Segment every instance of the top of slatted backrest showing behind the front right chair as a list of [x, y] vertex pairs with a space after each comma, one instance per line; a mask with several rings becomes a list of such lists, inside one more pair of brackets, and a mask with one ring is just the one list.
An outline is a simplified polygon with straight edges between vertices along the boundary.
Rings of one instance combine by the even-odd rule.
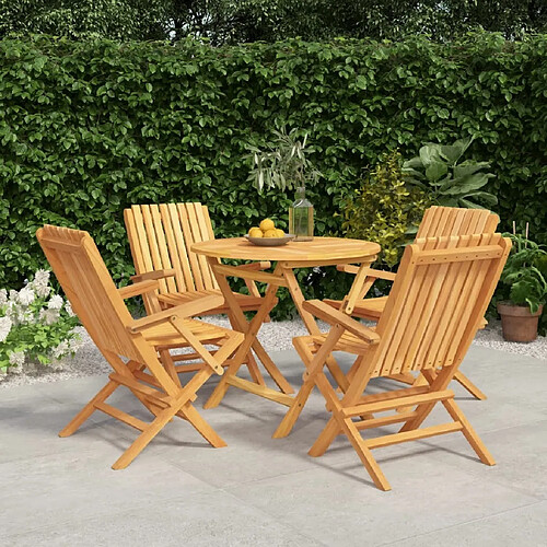
[[458, 209], [433, 206], [426, 210], [416, 238], [443, 235], [490, 234], [500, 218], [487, 209]]

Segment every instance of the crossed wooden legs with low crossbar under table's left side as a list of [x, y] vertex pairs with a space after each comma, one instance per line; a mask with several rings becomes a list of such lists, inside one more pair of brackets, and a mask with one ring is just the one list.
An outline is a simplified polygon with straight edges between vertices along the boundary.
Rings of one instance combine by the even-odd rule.
[[[214, 258], [209, 258], [208, 260], [211, 265], [212, 271], [214, 272], [220, 290], [222, 291], [226, 300], [226, 303], [230, 306], [234, 325], [240, 331], [245, 334], [245, 340], [237, 349], [232, 360], [232, 363], [224, 371], [224, 374], [221, 377], [219, 385], [214, 388], [213, 393], [211, 394], [207, 403], [203, 405], [203, 408], [213, 408], [218, 406], [219, 403], [224, 397], [230, 385], [235, 385], [236, 387], [241, 387], [248, 392], [255, 393], [256, 395], [260, 395], [263, 397], [289, 406], [292, 401], [292, 397], [290, 397], [287, 394], [294, 392], [291, 385], [287, 382], [287, 380], [279, 371], [279, 369], [276, 366], [274, 361], [271, 361], [266, 350], [263, 348], [261, 344], [256, 338], [256, 335], [260, 329], [261, 324], [264, 323], [265, 318], [268, 316], [271, 309], [274, 307], [278, 287], [275, 284], [270, 284], [268, 287], [268, 289], [266, 290], [266, 295], [264, 296], [263, 305], [256, 312], [251, 323], [248, 323], [247, 319], [245, 318], [245, 314], [243, 313], [240, 304], [237, 303], [232, 293], [226, 277], [223, 276], [222, 274], [218, 274], [214, 269], [214, 265], [219, 264], [219, 261]], [[274, 271], [274, 276], [279, 276], [278, 270], [279, 268], [276, 268], [276, 270]], [[269, 373], [271, 379], [276, 382], [276, 384], [279, 386], [282, 393], [277, 392], [276, 389], [271, 389], [270, 387], [267, 387], [265, 385], [252, 383], [246, 380], [238, 379], [236, 376], [236, 373], [240, 370], [241, 365], [243, 364], [245, 357], [251, 352], [252, 349], [255, 350], [264, 368]]]

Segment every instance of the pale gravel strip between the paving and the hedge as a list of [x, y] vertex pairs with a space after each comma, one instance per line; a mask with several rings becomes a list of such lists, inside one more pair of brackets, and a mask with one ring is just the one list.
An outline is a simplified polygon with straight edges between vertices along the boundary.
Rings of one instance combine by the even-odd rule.
[[[207, 321], [216, 325], [230, 327], [228, 319], [224, 317], [208, 317]], [[327, 328], [325, 324], [321, 323], [319, 327], [322, 330], [326, 330]], [[53, 371], [51, 369], [40, 366], [37, 370], [10, 373], [3, 381], [0, 381], [0, 388], [40, 382], [58, 382], [60, 380], [102, 375], [110, 372], [110, 366], [106, 363], [85, 330], [82, 327], [79, 328], [83, 340], [82, 347], [72, 359], [63, 363], [62, 370]], [[269, 352], [292, 349], [292, 338], [306, 334], [307, 331], [302, 321], [282, 321], [265, 323], [258, 338], [266, 351]], [[474, 344], [511, 353], [531, 356], [547, 361], [547, 337], [538, 337], [537, 340], [531, 344], [508, 342], [501, 337], [501, 326], [498, 323], [490, 324], [485, 330], [479, 330]]]

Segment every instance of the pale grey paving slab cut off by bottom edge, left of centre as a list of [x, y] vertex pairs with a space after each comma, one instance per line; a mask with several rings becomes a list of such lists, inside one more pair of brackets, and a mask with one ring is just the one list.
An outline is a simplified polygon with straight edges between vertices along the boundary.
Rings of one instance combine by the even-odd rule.
[[217, 491], [187, 494], [148, 508], [67, 522], [10, 538], [19, 547], [116, 546], [316, 547], [321, 544], [235, 497]]

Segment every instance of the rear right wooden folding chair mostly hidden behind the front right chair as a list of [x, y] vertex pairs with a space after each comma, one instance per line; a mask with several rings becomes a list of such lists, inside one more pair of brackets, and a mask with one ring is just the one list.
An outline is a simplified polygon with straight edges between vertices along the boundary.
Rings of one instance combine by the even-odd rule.
[[[431, 207], [426, 210], [423, 219], [418, 228], [417, 238], [422, 237], [440, 237], [449, 235], [470, 235], [482, 233], [494, 233], [500, 219], [497, 214], [491, 213], [486, 209], [457, 209], [454, 207]], [[357, 274], [359, 268], [351, 265], [338, 266], [339, 271], [347, 274]], [[387, 302], [387, 296], [375, 299], [364, 299], [364, 295], [370, 291], [376, 279], [394, 281], [396, 275], [392, 271], [376, 270], [369, 268], [366, 271], [366, 280], [362, 284], [360, 298], [362, 300], [354, 304], [351, 315], [362, 319], [377, 322], [384, 311]], [[336, 309], [340, 309], [341, 300], [324, 300]], [[482, 326], [487, 322], [484, 319]], [[412, 375], [398, 374], [396, 380], [414, 385], [423, 385], [424, 380], [419, 376], [415, 379]], [[459, 382], [474, 397], [477, 399], [486, 399], [486, 395], [468, 379], [463, 372], [457, 372], [454, 380]]]

